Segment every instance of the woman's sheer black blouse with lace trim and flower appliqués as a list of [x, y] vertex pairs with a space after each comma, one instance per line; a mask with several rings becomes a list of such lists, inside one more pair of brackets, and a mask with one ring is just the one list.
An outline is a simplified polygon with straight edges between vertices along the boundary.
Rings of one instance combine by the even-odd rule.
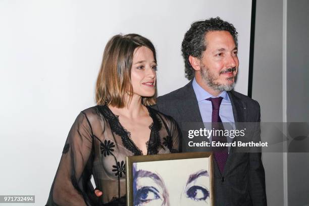
[[[147, 155], [178, 152], [181, 134], [175, 120], [147, 109], [152, 118]], [[107, 106], [82, 111], [69, 132], [46, 205], [125, 205], [125, 158], [134, 155], [143, 154]], [[100, 198], [91, 175], [103, 192]]]

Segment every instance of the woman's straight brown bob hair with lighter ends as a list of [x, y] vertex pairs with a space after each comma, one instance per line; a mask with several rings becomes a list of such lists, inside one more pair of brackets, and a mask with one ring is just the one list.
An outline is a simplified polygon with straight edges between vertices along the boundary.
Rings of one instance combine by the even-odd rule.
[[[115, 35], [107, 43], [101, 68], [96, 80], [95, 99], [97, 105], [125, 107], [125, 94], [132, 94], [131, 67], [137, 47], [146, 46], [153, 53], [157, 63], [156, 49], [151, 41], [138, 34]], [[156, 83], [157, 85], [157, 83]], [[142, 97], [143, 105], [154, 105], [156, 92], [151, 97]]]

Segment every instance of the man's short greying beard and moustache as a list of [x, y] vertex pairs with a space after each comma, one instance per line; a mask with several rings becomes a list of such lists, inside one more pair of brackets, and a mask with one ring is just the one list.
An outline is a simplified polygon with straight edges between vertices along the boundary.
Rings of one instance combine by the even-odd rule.
[[[236, 67], [225, 69], [223, 72], [234, 72], [234, 71], [236, 71]], [[216, 75], [212, 73], [210, 69], [206, 68], [204, 65], [201, 65], [200, 75], [202, 79], [207, 83], [207, 85], [216, 91], [231, 91], [235, 86], [236, 75], [233, 77], [227, 77], [226, 80], [228, 81], [228, 83], [219, 84], [216, 83], [215, 81], [219, 79], [220, 74], [219, 76], [216, 77]]]

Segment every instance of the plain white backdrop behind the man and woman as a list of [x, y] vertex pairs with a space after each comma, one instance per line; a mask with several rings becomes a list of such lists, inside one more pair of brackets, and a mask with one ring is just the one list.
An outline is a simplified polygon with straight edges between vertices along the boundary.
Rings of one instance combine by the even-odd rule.
[[251, 1], [0, 0], [0, 195], [36, 195], [44, 205], [71, 125], [95, 105], [113, 35], [153, 42], [162, 95], [188, 82], [180, 46], [190, 24], [217, 16], [239, 32], [236, 90], [247, 94]]

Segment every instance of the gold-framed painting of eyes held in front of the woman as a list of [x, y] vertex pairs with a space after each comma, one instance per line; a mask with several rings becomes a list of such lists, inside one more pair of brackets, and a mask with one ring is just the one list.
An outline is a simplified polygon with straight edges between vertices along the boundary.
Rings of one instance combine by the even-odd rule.
[[176, 205], [199, 201], [194, 205], [214, 206], [213, 158], [213, 152], [128, 156], [127, 206], [147, 205], [149, 201], [155, 203], [151, 205], [158, 202], [158, 206], [173, 205], [170, 201], [179, 201]]

